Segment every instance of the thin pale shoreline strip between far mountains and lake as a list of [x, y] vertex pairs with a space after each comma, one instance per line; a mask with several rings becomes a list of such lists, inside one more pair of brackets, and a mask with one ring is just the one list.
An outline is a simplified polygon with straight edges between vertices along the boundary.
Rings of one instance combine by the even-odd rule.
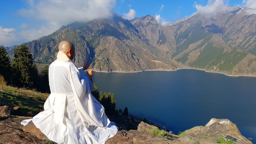
[[[191, 68], [179, 68], [179, 69], [176, 69], [176, 70], [163, 70], [163, 69], [156, 69], [156, 70], [143, 70], [143, 71], [177, 71], [177, 70], [180, 70], [180, 69], [191, 69]], [[224, 73], [224, 72], [216, 72], [216, 71], [207, 71], [207, 70], [204, 70], [204, 69], [197, 69], [197, 68], [192, 68], [193, 70], [201, 70], [201, 71], [205, 71], [205, 72], [212, 72], [212, 73], [220, 73], [220, 74], [224, 74], [224, 75], [227, 75], [227, 76], [230, 76], [230, 77], [256, 77], [256, 75], [247, 75], [247, 74], [243, 74], [243, 75], [230, 75], [230, 74], [227, 74], [227, 73]], [[92, 69], [93, 70], [93, 69]], [[143, 71], [97, 71], [97, 70], [93, 70], [95, 72], [107, 72], [107, 73], [111, 73], [111, 72], [119, 72], [119, 73], [133, 73], [133, 72], [143, 72]]]

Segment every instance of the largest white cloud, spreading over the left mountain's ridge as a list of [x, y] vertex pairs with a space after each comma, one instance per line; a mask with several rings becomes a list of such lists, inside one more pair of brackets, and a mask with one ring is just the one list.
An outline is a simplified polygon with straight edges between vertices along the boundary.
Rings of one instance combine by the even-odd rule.
[[26, 23], [20, 25], [21, 31], [14, 28], [0, 27], [0, 44], [13, 45], [20, 42], [27, 42], [38, 39], [41, 36], [49, 35], [62, 25], [75, 21], [90, 21], [95, 18], [111, 17], [114, 13], [112, 8], [116, 0], [44, 0], [37, 3], [34, 0], [27, 0], [27, 9], [20, 9], [17, 15], [32, 19], [46, 21], [46, 25], [31, 26], [29, 29]]

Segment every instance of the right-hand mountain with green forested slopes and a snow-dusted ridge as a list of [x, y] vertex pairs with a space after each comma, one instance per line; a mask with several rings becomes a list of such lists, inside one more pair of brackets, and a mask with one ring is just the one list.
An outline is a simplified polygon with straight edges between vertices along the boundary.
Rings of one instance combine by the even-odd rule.
[[[256, 14], [248, 8], [220, 6], [212, 16], [197, 13], [165, 25], [152, 16], [130, 22], [149, 44], [186, 66], [232, 74], [255, 74]], [[151, 22], [149, 22], [151, 21]]]

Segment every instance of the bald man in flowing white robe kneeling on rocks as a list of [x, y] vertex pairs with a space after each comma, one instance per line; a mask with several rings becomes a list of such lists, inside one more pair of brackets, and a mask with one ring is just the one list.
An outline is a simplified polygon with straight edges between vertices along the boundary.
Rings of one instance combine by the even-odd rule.
[[51, 94], [44, 103], [44, 111], [32, 119], [21, 122], [24, 126], [32, 120], [50, 140], [64, 144], [104, 144], [118, 131], [110, 122], [104, 107], [92, 95], [94, 90], [88, 60], [77, 68], [71, 61], [75, 46], [70, 41], [59, 43], [57, 59], [49, 66]]

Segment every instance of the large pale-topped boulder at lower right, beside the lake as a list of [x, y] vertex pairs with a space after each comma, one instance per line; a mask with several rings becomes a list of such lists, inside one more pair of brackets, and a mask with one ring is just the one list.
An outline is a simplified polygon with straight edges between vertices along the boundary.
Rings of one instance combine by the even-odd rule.
[[222, 135], [223, 138], [234, 139], [236, 144], [252, 144], [240, 133], [236, 124], [228, 119], [212, 118], [205, 126], [195, 126], [184, 132], [191, 132], [195, 137], [204, 138], [211, 142], [216, 142], [217, 138], [220, 139]]

